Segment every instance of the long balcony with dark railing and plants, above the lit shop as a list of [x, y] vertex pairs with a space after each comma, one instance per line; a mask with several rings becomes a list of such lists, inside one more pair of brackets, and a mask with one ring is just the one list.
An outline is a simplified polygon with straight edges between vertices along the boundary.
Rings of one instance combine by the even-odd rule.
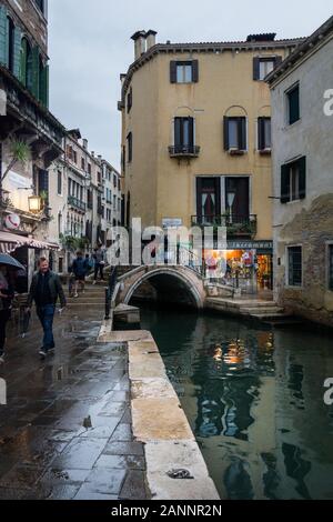
[[226, 227], [228, 238], [253, 239], [258, 230], [256, 214], [192, 215], [192, 227]]

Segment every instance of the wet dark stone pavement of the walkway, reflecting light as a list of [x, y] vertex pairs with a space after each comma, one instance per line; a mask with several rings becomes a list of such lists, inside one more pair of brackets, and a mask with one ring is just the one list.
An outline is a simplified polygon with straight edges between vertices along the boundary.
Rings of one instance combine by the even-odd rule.
[[100, 310], [75, 313], [56, 319], [56, 355], [44, 362], [36, 318], [26, 339], [9, 332], [0, 368], [8, 385], [0, 499], [148, 498], [143, 446], [131, 430], [127, 350], [97, 344]]

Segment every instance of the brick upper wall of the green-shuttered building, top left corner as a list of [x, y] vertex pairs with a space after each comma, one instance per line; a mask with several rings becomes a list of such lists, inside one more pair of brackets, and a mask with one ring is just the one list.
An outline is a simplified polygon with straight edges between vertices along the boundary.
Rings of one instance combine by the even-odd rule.
[[10, 11], [14, 23], [32, 38], [40, 50], [48, 54], [48, 21], [32, 0], [1, 0]]

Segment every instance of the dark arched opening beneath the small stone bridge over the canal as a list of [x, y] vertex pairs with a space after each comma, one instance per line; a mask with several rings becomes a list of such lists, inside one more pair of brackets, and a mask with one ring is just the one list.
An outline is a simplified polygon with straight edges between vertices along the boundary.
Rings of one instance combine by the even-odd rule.
[[176, 305], [201, 310], [202, 295], [195, 283], [179, 271], [152, 271], [138, 278], [124, 298], [125, 304], [138, 301], [158, 305]]

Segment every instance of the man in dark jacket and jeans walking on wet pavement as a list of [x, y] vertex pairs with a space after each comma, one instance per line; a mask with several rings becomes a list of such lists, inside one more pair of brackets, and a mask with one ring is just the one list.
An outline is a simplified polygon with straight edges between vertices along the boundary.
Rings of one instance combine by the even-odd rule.
[[60, 299], [62, 311], [65, 307], [65, 297], [59, 275], [50, 271], [49, 261], [41, 258], [38, 265], [39, 271], [33, 275], [30, 287], [28, 307], [30, 309], [32, 302], [36, 302], [37, 315], [44, 332], [43, 345], [39, 353], [44, 359], [56, 348], [52, 327], [57, 301]]

